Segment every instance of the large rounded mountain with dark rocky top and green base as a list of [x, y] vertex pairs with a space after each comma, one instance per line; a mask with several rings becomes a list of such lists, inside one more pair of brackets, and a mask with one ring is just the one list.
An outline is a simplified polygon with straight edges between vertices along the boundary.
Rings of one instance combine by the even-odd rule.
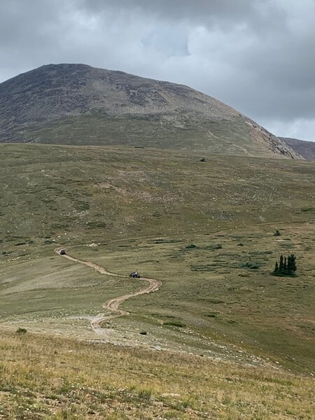
[[84, 64], [50, 64], [0, 84], [0, 142], [17, 141], [302, 158], [190, 87]]

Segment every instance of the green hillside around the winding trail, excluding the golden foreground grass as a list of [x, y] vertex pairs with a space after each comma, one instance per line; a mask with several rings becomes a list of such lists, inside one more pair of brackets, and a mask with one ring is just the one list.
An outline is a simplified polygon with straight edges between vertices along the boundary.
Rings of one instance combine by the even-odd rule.
[[[125, 302], [132, 316], [111, 321], [112, 342], [311, 372], [314, 165], [115, 147], [1, 156], [2, 325], [93, 338], [102, 304], [141, 287], [63, 260], [64, 245], [163, 281]], [[297, 255], [297, 278], [270, 275], [281, 253]]]

